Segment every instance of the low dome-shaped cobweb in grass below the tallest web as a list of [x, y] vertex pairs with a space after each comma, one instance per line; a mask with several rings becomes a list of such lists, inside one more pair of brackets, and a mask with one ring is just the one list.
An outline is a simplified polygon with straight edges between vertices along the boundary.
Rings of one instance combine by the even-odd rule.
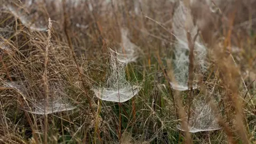
[[[193, 105], [188, 123], [189, 132], [195, 133], [222, 129], [215, 117], [215, 111], [212, 110], [209, 103], [204, 99], [197, 98], [194, 99]], [[177, 129], [186, 131], [182, 130], [180, 125], [177, 125]]]

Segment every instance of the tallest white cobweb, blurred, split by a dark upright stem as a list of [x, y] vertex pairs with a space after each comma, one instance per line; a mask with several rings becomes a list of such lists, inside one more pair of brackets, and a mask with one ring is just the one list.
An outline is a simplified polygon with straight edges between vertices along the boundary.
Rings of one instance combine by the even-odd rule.
[[[188, 90], [188, 65], [189, 65], [189, 47], [187, 40], [187, 31], [190, 32], [191, 37], [194, 37], [197, 33], [197, 26], [194, 26], [193, 18], [188, 9], [182, 1], [179, 2], [179, 6], [174, 11], [172, 22], [173, 34], [176, 41], [173, 42], [174, 59], [173, 59], [173, 74], [177, 83], [170, 83], [175, 90], [184, 91]], [[206, 47], [200, 42], [199, 37], [195, 41], [195, 67], [199, 71], [206, 70]], [[197, 89], [194, 84], [193, 89]]]

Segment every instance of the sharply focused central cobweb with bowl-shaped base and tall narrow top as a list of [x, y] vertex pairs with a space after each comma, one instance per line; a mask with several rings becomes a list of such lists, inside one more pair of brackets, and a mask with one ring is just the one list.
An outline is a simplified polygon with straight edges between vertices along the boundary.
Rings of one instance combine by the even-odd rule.
[[115, 51], [110, 50], [110, 75], [107, 79], [107, 87], [94, 87], [92, 90], [101, 100], [113, 102], [125, 102], [138, 94], [141, 87], [131, 85], [126, 81], [126, 63], [117, 59]]

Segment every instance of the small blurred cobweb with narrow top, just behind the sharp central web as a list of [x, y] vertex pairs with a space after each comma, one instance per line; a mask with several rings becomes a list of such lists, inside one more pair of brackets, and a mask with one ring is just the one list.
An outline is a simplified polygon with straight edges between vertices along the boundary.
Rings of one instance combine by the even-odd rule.
[[127, 37], [128, 30], [121, 28], [122, 47], [117, 50], [117, 59], [123, 63], [135, 62], [138, 58], [138, 46]]

